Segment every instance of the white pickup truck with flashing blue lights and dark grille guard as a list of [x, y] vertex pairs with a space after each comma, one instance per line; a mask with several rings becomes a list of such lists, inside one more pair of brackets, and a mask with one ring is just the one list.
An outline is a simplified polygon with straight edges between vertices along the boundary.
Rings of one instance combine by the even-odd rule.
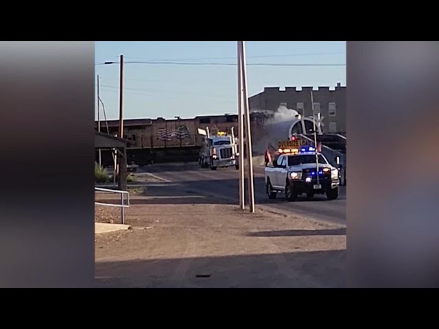
[[[318, 158], [318, 166], [317, 166]], [[270, 199], [277, 193], [285, 193], [288, 201], [306, 194], [326, 194], [330, 200], [337, 199], [340, 172], [329, 164], [323, 154], [314, 147], [301, 147], [296, 152], [283, 151], [281, 156], [265, 167], [265, 187]]]

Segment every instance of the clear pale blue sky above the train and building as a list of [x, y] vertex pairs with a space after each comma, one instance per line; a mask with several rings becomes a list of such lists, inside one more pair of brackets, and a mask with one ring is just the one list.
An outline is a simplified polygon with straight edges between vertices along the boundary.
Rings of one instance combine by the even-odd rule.
[[[236, 41], [95, 42], [95, 88], [99, 75], [108, 120], [119, 117], [120, 55], [124, 119], [237, 113]], [[346, 42], [248, 41], [246, 60], [249, 97], [267, 86], [346, 86]], [[102, 65], [108, 61], [117, 63]], [[103, 119], [102, 108], [100, 113]]]

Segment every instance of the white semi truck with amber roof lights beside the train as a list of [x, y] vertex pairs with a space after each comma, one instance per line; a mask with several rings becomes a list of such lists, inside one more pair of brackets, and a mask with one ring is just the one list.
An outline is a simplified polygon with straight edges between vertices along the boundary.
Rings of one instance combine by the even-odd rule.
[[239, 169], [239, 153], [233, 127], [231, 134], [217, 132], [211, 136], [209, 128], [199, 129], [198, 134], [205, 136], [198, 158], [200, 167], [216, 170], [217, 168], [234, 166]]

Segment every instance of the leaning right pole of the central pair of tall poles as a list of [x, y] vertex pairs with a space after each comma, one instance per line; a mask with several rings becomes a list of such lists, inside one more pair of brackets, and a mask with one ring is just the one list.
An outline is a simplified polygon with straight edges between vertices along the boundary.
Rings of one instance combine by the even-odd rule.
[[241, 48], [241, 71], [242, 71], [242, 101], [244, 103], [244, 117], [246, 120], [247, 137], [247, 158], [248, 158], [248, 199], [250, 202], [250, 212], [254, 212], [254, 180], [253, 180], [253, 158], [252, 158], [252, 132], [250, 127], [250, 104], [248, 103], [247, 86], [247, 65], [246, 65], [246, 45], [244, 41], [238, 41]]

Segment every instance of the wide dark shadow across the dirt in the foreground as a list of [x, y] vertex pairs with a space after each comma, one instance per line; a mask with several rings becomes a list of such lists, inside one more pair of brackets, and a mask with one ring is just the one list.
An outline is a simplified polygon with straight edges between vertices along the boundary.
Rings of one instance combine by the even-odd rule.
[[95, 262], [96, 287], [345, 287], [346, 250]]

